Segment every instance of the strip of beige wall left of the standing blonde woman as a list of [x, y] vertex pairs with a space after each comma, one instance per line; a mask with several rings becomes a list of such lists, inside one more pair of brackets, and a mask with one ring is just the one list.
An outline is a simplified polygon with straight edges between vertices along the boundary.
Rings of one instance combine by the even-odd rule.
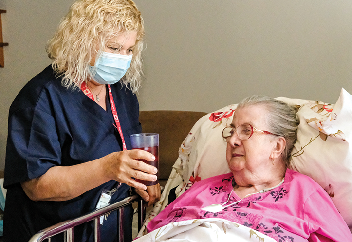
[[0, 169], [5, 164], [7, 118], [12, 101], [51, 63], [45, 44], [73, 0], [0, 0], [5, 68], [0, 68]]

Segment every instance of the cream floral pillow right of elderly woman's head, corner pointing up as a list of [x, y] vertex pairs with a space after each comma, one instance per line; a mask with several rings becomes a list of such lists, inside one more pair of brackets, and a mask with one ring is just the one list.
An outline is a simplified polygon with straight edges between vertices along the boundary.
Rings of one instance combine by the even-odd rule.
[[342, 89], [335, 105], [309, 101], [297, 116], [291, 169], [323, 187], [352, 228], [352, 96]]

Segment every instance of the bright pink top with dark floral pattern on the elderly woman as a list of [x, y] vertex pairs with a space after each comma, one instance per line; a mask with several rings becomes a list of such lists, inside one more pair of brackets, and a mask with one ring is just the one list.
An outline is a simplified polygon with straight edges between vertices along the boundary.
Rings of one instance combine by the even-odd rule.
[[[200, 208], [226, 202], [233, 189], [232, 173], [211, 177], [194, 185], [148, 223], [148, 232], [170, 222], [222, 218], [240, 223], [278, 242], [347, 242], [352, 235], [329, 195], [314, 180], [287, 169], [277, 188], [251, 195], [212, 213]], [[227, 204], [240, 198], [232, 192]]]

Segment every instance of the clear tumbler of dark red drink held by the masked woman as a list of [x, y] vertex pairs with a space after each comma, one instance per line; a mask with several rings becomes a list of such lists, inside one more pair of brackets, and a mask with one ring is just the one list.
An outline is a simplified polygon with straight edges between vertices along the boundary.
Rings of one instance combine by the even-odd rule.
[[[131, 135], [131, 145], [132, 149], [145, 150], [155, 156], [154, 161], [147, 161], [143, 159], [138, 159], [138, 161], [143, 161], [144, 163], [156, 167], [158, 169], [156, 176], [159, 178], [159, 134], [133, 134]], [[158, 179], [154, 182], [144, 181], [140, 179], [136, 179], [136, 181], [145, 184], [146, 186], [156, 185], [159, 183]]]

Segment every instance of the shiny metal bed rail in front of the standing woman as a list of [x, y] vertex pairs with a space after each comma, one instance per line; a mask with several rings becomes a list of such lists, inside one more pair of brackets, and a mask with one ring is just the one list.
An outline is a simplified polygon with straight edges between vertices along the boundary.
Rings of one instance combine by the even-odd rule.
[[99, 239], [99, 218], [101, 216], [104, 216], [105, 214], [108, 214], [114, 210], [117, 211], [117, 218], [119, 222], [119, 231], [117, 231], [117, 235], [119, 238], [119, 242], [123, 241], [123, 209], [124, 206], [127, 206], [129, 204], [132, 204], [134, 202], [138, 202], [138, 230], [141, 229], [143, 221], [145, 219], [145, 206], [143, 205], [143, 199], [135, 194], [131, 195], [130, 197], [125, 198], [124, 200], [121, 200], [119, 202], [110, 204], [108, 206], [99, 208], [94, 210], [93, 212], [83, 215], [81, 217], [75, 218], [73, 220], [67, 220], [64, 222], [57, 223], [51, 227], [45, 228], [43, 230], [40, 230], [35, 234], [28, 242], [42, 242], [44, 240], [47, 240], [48, 242], [51, 242], [51, 237], [54, 235], [57, 235], [59, 233], [63, 233], [63, 238], [64, 242], [74, 242], [74, 227], [77, 225], [80, 225], [85, 222], [90, 222], [93, 220], [93, 227], [94, 227], [94, 242], [100, 242]]

